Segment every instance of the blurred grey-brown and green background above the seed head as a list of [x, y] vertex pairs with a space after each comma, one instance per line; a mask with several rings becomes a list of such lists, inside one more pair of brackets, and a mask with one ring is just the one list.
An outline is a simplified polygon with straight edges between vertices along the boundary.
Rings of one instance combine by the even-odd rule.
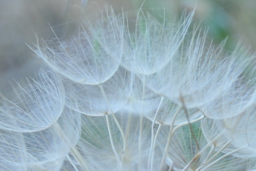
[[41, 61], [26, 43], [36, 43], [36, 35], [54, 37], [50, 26], [58, 37], [68, 36], [77, 23], [100, 13], [106, 4], [116, 11], [137, 11], [142, 3], [155, 11], [165, 8], [170, 22], [195, 8], [193, 22], [208, 27], [208, 37], [216, 44], [228, 37], [227, 50], [239, 41], [252, 53], [256, 50], [256, 0], [0, 0], [0, 91], [11, 91], [13, 79], [39, 69]]

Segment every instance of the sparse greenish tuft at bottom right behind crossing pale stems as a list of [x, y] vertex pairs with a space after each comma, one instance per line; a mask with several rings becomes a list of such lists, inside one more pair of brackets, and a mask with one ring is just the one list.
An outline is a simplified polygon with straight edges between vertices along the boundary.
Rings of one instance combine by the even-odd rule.
[[[195, 137], [192, 136], [191, 128]], [[168, 128], [163, 128], [159, 139], [162, 147], [165, 145], [168, 131]], [[246, 159], [225, 155], [215, 149], [212, 143], [207, 144], [200, 130], [200, 122], [192, 123], [191, 127], [187, 125], [179, 128], [172, 137], [168, 152], [175, 171], [228, 171], [230, 168], [240, 171], [249, 162]], [[220, 158], [222, 160], [219, 160]]]

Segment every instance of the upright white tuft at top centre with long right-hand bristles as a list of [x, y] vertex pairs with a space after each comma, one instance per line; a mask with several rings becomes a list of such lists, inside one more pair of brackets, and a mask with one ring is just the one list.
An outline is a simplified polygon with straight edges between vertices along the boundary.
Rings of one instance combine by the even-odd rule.
[[124, 56], [121, 65], [135, 74], [150, 75], [163, 68], [180, 47], [193, 17], [191, 12], [178, 26], [159, 22], [139, 9], [135, 21], [126, 18]]

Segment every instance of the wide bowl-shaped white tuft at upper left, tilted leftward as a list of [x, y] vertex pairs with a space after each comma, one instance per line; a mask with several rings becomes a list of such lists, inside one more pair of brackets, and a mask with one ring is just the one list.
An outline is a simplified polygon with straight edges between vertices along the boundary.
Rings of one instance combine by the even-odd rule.
[[119, 67], [123, 25], [122, 17], [114, 15], [112, 9], [103, 15], [106, 16], [98, 22], [81, 24], [69, 39], [61, 40], [55, 35], [56, 40], [43, 41], [43, 46], [36, 45], [37, 50], [33, 51], [74, 82], [90, 85], [105, 82]]

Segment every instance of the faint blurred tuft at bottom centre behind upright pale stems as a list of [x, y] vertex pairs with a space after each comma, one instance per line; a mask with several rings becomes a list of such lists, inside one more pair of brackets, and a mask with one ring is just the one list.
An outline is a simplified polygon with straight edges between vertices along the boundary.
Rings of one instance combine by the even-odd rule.
[[[119, 123], [125, 133], [125, 139], [119, 132], [113, 119], [110, 119], [111, 138], [116, 153], [111, 147], [110, 135], [107, 122], [104, 117], [83, 116], [82, 135], [78, 142], [78, 149], [82, 156], [89, 162], [91, 170], [131, 171], [137, 170], [141, 165], [141, 171], [147, 170], [148, 153], [150, 149], [150, 122], [143, 122], [142, 136], [142, 160], [139, 160], [138, 138], [139, 138], [139, 117], [132, 115], [118, 115]], [[154, 168], [159, 165], [159, 155], [155, 154]], [[141, 163], [139, 163], [141, 161]]]

